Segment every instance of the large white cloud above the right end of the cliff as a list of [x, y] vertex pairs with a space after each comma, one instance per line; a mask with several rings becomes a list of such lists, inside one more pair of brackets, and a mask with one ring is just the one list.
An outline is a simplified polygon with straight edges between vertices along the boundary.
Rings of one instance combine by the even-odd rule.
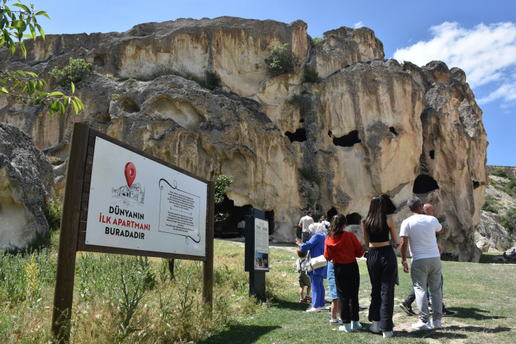
[[472, 29], [458, 23], [430, 27], [433, 38], [397, 49], [394, 58], [424, 65], [444, 61], [448, 67], [463, 69], [471, 87], [490, 84], [491, 94], [479, 103], [495, 99], [516, 99], [513, 75], [516, 73], [516, 23], [479, 24]]

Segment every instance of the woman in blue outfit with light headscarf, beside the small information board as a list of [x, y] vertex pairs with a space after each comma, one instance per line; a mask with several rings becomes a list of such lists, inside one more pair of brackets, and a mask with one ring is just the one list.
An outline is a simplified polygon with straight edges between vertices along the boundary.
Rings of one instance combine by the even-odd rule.
[[[324, 241], [325, 236], [323, 234], [323, 226], [314, 226], [315, 234], [312, 235], [309, 241], [303, 243], [299, 238], [296, 239], [295, 243], [299, 245], [299, 248], [308, 253], [310, 251], [310, 258], [322, 256], [324, 254]], [[310, 260], [308, 260], [310, 262]], [[321, 312], [326, 310], [324, 306], [324, 284], [323, 280], [327, 277], [326, 267], [320, 267], [312, 272], [307, 272], [310, 275], [310, 283], [312, 284], [312, 308], [307, 312]]]

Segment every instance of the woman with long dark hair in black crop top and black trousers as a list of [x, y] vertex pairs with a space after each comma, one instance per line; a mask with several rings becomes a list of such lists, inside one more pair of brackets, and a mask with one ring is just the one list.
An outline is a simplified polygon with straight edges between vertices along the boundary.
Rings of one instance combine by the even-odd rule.
[[367, 217], [362, 221], [367, 251], [367, 270], [371, 279], [371, 306], [369, 306], [369, 328], [372, 332], [383, 332], [384, 338], [393, 336], [394, 283], [397, 258], [389, 243], [397, 249], [397, 235], [394, 221], [387, 219], [385, 200], [381, 196], [371, 199]]

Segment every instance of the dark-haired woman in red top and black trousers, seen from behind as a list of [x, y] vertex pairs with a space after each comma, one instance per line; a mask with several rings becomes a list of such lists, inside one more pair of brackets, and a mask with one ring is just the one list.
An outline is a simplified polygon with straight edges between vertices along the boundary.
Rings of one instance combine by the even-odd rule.
[[358, 321], [358, 288], [360, 273], [356, 258], [364, 256], [364, 248], [355, 234], [346, 232], [347, 221], [343, 214], [332, 219], [324, 245], [324, 258], [334, 265], [335, 284], [341, 304], [343, 325], [339, 330], [351, 332], [362, 328]]

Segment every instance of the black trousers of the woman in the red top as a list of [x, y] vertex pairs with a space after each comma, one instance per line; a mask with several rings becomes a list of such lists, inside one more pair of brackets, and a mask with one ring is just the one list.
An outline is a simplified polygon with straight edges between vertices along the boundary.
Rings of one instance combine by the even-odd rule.
[[358, 321], [358, 289], [360, 288], [360, 273], [356, 260], [349, 264], [333, 265], [335, 271], [335, 286], [341, 303], [341, 319], [343, 323]]

